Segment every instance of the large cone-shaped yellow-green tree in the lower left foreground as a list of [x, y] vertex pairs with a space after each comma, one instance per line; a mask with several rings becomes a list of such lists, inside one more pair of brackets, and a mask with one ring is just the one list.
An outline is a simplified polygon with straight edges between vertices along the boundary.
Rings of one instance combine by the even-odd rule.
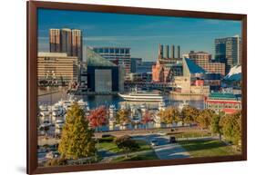
[[74, 103], [67, 111], [58, 151], [66, 159], [78, 159], [95, 155], [94, 131], [89, 128], [84, 111]]

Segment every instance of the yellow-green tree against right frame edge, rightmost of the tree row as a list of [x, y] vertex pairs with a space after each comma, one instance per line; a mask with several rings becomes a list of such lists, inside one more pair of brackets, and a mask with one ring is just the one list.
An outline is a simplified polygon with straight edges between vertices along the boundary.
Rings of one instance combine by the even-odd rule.
[[220, 120], [223, 136], [235, 145], [241, 141], [241, 112], [227, 114]]

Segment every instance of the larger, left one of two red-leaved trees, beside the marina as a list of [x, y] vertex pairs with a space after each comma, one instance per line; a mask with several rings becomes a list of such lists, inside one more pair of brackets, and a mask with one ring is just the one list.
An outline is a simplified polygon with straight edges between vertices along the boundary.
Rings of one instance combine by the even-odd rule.
[[97, 109], [90, 112], [89, 116], [87, 117], [89, 121], [89, 125], [92, 128], [97, 128], [107, 124], [107, 109], [105, 106], [100, 106]]

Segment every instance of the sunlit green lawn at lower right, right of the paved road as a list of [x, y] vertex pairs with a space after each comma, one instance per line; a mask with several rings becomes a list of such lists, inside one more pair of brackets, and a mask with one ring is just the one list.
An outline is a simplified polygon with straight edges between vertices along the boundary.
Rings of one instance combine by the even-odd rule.
[[179, 141], [179, 144], [185, 150], [189, 151], [189, 154], [192, 157], [227, 156], [240, 153], [235, 151], [232, 146], [226, 145], [224, 142], [217, 140]]

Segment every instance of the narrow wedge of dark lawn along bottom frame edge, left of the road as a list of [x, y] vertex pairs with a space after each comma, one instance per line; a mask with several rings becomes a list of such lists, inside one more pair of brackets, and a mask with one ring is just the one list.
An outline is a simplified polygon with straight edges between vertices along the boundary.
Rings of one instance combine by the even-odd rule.
[[139, 153], [130, 155], [128, 157], [122, 156], [116, 159], [111, 160], [111, 162], [118, 162], [118, 161], [131, 161], [131, 160], [159, 160], [158, 156], [156, 155], [155, 151], [147, 151], [144, 153]]

